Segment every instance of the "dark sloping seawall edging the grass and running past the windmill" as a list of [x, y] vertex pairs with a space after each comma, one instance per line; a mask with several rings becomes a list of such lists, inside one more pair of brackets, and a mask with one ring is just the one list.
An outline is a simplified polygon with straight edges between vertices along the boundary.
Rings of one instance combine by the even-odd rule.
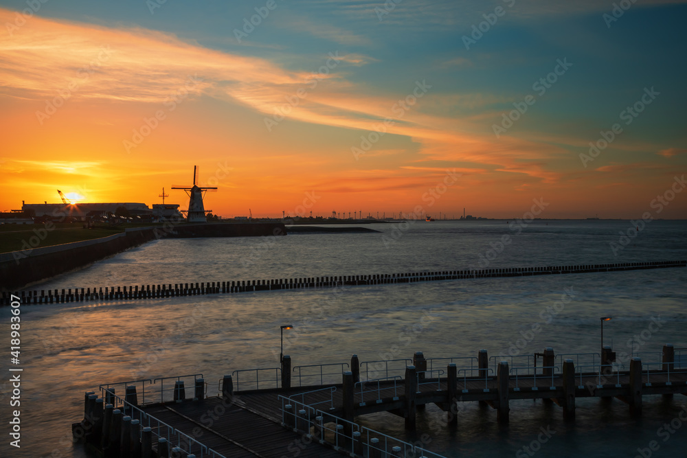
[[168, 227], [128, 228], [123, 233], [93, 240], [0, 253], [0, 291], [17, 290], [159, 238], [278, 235], [286, 235], [281, 223], [170, 224]]

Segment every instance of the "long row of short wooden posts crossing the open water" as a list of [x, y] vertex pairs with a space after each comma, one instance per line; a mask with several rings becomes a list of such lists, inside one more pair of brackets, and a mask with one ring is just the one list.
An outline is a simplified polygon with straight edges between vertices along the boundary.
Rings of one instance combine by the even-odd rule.
[[[575, 266], [486, 268], [463, 271], [431, 271], [376, 275], [339, 275], [333, 277], [300, 277], [285, 279], [241, 280], [232, 282], [175, 283], [142, 286], [104, 286], [100, 288], [62, 288], [55, 290], [2, 293], [0, 305], [8, 306], [12, 295], [21, 304], [63, 304], [65, 302], [102, 301], [117, 299], [159, 299], [164, 297], [195, 296], [218, 293], [244, 293], [300, 288], [332, 288], [335, 286], [432, 282], [449, 279], [489, 277], [522, 277], [566, 273], [627, 271], [646, 268], [685, 267], [687, 261], [623, 262], [617, 264], [578, 264]], [[116, 288], [116, 289], [115, 289]]]

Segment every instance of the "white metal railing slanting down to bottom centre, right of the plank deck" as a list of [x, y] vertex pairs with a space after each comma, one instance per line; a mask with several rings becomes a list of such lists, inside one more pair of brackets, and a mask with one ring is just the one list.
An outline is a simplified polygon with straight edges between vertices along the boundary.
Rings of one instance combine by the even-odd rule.
[[[344, 420], [331, 413], [313, 409], [284, 396], [279, 396], [279, 398], [282, 401], [282, 424], [294, 425], [296, 431], [305, 433], [308, 437], [312, 437], [311, 428], [314, 427], [315, 436], [320, 436], [318, 439], [333, 445], [335, 450], [347, 455], [370, 457], [377, 451], [379, 456], [385, 458], [399, 456], [444, 458], [420, 446]], [[293, 411], [286, 411], [287, 404], [291, 404]], [[293, 415], [293, 419], [287, 419], [286, 415]], [[288, 420], [291, 420], [291, 423]]]

